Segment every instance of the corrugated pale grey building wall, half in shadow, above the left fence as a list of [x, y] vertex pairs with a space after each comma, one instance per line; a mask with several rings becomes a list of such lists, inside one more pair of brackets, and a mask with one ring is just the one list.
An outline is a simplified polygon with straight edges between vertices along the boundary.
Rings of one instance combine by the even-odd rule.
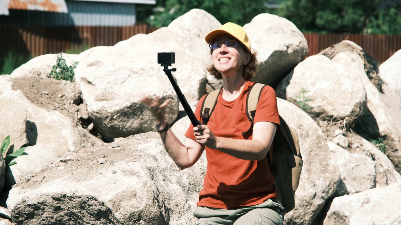
[[68, 13], [10, 10], [10, 17], [25, 26], [132, 26], [136, 4], [65, 1]]

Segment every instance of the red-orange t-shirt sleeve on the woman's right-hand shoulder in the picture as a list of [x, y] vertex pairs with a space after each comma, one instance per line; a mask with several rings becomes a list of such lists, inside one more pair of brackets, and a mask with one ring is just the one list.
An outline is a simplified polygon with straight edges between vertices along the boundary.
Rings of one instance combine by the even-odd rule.
[[[280, 125], [280, 119], [277, 108], [277, 98], [275, 91], [271, 86], [265, 86], [256, 106], [255, 119], [253, 123], [266, 121]], [[277, 127], [278, 129], [278, 127]]]

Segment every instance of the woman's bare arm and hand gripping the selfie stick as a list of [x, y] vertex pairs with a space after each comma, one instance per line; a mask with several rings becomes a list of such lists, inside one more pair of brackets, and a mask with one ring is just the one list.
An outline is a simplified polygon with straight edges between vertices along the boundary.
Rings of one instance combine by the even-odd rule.
[[238, 140], [225, 137], [215, 137], [209, 127], [199, 125], [194, 127], [196, 142], [211, 149], [217, 149], [233, 157], [244, 160], [262, 160], [270, 149], [277, 124], [260, 121], [253, 126], [251, 140]]

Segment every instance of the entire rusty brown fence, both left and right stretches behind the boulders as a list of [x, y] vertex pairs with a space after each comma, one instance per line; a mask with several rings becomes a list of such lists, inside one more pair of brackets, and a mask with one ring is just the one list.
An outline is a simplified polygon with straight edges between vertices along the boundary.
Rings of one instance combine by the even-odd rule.
[[[10, 21], [0, 20], [0, 65], [4, 57], [12, 51], [16, 55], [32, 57], [47, 53], [58, 53], [68, 49], [76, 52], [93, 46], [113, 46], [138, 33], [148, 34], [156, 30], [146, 24], [124, 27], [105, 26], [22, 26]], [[308, 56], [342, 40], [351, 40], [361, 46], [379, 63], [384, 62], [401, 49], [401, 36], [363, 35], [363, 34], [310, 34]]]

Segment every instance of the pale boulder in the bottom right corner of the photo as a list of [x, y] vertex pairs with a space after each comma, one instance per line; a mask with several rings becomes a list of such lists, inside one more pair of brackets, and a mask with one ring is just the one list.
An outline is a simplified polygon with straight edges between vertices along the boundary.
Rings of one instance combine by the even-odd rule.
[[397, 181], [387, 187], [334, 198], [323, 224], [399, 224], [400, 208], [401, 181]]

